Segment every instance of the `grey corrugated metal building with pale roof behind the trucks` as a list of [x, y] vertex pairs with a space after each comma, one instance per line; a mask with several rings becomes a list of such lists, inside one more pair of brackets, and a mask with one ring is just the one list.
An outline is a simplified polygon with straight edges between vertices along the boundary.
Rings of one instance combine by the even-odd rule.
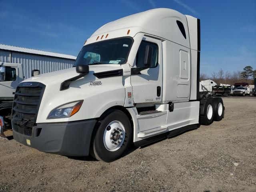
[[0, 62], [22, 64], [25, 79], [31, 77], [34, 69], [40, 70], [41, 74], [67, 69], [73, 66], [75, 60], [72, 55], [0, 44]]

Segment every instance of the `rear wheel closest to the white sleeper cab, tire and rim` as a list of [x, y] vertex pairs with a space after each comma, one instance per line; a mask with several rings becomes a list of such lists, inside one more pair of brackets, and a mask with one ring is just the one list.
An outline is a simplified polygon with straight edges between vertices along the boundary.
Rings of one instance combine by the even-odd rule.
[[213, 98], [209, 98], [206, 100], [204, 106], [204, 114], [199, 117], [199, 123], [201, 125], [210, 125], [213, 122], [214, 118], [214, 105]]

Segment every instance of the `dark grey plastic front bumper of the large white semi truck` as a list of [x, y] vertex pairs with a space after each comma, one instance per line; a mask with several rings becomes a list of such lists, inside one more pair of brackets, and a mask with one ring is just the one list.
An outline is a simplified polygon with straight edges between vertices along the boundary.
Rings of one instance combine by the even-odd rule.
[[96, 120], [41, 123], [32, 128], [31, 136], [13, 130], [13, 137], [16, 141], [42, 152], [65, 156], [88, 156], [95, 124]]

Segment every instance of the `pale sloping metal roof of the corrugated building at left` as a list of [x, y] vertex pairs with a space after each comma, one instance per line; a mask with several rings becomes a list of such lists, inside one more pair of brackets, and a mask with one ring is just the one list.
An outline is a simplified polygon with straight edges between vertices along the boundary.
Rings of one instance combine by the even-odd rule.
[[72, 56], [72, 55], [66, 55], [66, 54], [54, 53], [54, 52], [48, 52], [48, 51], [41, 51], [41, 50], [36, 50], [36, 49], [29, 49], [29, 48], [4, 45], [4, 44], [0, 44], [0, 50], [22, 52], [22, 53], [36, 54], [36, 55], [43, 55], [43, 56], [51, 56], [51, 57], [58, 57], [58, 58], [72, 59], [72, 60], [76, 59], [76, 57]]

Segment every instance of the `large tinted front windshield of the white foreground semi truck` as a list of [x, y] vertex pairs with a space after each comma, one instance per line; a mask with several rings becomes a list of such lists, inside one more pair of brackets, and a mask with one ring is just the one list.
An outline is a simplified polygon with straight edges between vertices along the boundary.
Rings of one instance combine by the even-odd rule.
[[92, 64], [124, 64], [127, 61], [132, 38], [116, 38], [88, 44], [82, 48], [74, 66]]

